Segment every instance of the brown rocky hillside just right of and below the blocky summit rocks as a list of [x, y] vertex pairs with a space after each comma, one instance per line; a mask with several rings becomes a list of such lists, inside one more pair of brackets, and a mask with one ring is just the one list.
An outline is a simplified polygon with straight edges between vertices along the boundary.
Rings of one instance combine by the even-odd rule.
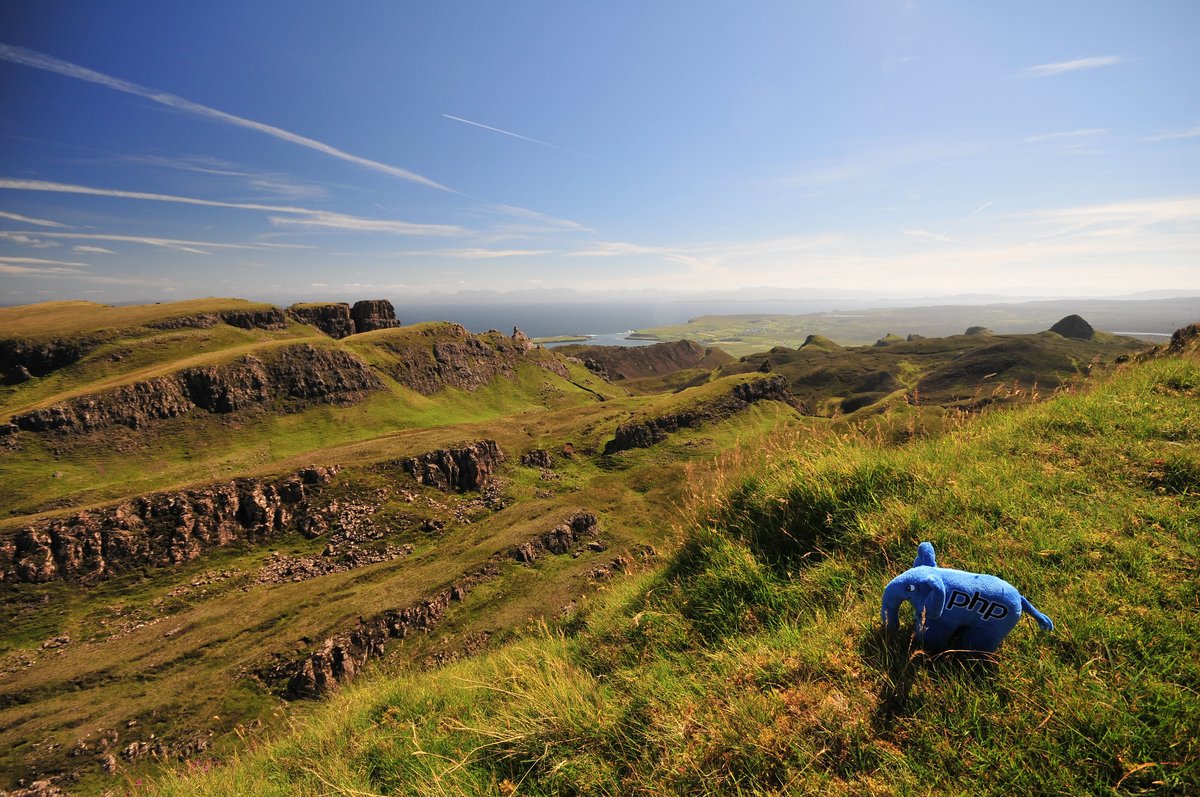
[[434, 324], [419, 332], [425, 343], [413, 340], [378, 341], [391, 355], [391, 362], [379, 367], [396, 382], [422, 395], [444, 388], [475, 391], [496, 377], [512, 378], [522, 362], [530, 362], [566, 378], [566, 366], [545, 349], [530, 348], [527, 338], [500, 332], [472, 335], [460, 324]]

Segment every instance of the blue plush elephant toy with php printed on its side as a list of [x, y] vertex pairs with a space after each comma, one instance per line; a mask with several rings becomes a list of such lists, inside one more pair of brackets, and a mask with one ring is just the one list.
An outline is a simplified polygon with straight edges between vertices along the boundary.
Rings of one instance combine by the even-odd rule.
[[994, 652], [1004, 641], [1021, 610], [1027, 611], [1048, 631], [1054, 622], [1016, 587], [982, 573], [966, 573], [937, 567], [934, 546], [922, 543], [912, 569], [905, 570], [883, 589], [883, 627], [900, 627], [900, 604], [912, 604], [916, 612], [913, 631], [926, 651]]

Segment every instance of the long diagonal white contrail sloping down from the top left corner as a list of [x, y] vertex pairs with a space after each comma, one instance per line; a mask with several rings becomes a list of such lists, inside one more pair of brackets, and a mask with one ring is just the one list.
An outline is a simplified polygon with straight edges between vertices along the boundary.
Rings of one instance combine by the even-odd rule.
[[358, 155], [352, 155], [344, 150], [332, 146], [331, 144], [308, 138], [307, 136], [300, 136], [299, 133], [293, 133], [292, 131], [283, 130], [282, 127], [254, 121], [252, 119], [245, 119], [244, 116], [236, 116], [223, 110], [217, 110], [216, 108], [210, 108], [209, 106], [203, 106], [198, 102], [192, 102], [191, 100], [185, 100], [184, 97], [168, 94], [166, 91], [149, 89], [146, 86], [138, 85], [137, 83], [131, 83], [130, 80], [122, 80], [121, 78], [103, 74], [102, 72], [96, 72], [95, 70], [89, 70], [88, 67], [79, 66], [78, 64], [64, 61], [62, 59], [54, 58], [53, 55], [46, 55], [43, 53], [25, 49], [24, 47], [16, 47], [13, 44], [0, 44], [0, 59], [35, 70], [54, 72], [55, 74], [74, 78], [77, 80], [95, 83], [97, 85], [113, 89], [114, 91], [131, 94], [144, 100], [150, 100], [151, 102], [157, 102], [161, 106], [174, 108], [175, 110], [181, 110], [184, 113], [208, 119], [209, 121], [252, 130], [289, 144], [304, 146], [306, 149], [329, 155], [330, 157], [336, 157], [341, 161], [354, 163], [355, 166], [379, 172], [382, 174], [388, 174], [401, 180], [424, 185], [430, 188], [437, 188], [439, 191], [450, 191], [446, 186], [415, 172], [390, 166], [388, 163], [380, 163], [379, 161], [372, 161]]

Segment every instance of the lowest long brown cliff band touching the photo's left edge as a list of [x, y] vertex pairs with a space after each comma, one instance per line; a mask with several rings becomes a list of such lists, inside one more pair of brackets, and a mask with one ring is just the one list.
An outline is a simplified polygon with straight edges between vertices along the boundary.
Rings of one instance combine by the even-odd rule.
[[235, 479], [31, 523], [0, 540], [0, 581], [95, 581], [274, 539], [305, 527], [311, 490], [336, 472], [308, 467], [274, 480]]

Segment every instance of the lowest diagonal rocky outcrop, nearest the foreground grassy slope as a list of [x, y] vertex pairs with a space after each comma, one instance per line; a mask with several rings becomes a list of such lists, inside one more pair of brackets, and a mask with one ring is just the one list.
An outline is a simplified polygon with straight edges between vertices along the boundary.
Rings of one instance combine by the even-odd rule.
[[259, 675], [268, 683], [282, 687], [288, 697], [322, 695], [354, 678], [370, 659], [383, 652], [389, 640], [431, 631], [452, 604], [462, 601], [475, 587], [498, 577], [505, 562], [515, 559], [533, 564], [546, 553], [568, 553], [583, 540], [594, 538], [598, 529], [595, 515], [578, 511], [553, 529], [491, 556], [484, 564], [432, 595], [403, 609], [359, 619], [353, 629], [325, 639], [302, 659], [274, 664]]

